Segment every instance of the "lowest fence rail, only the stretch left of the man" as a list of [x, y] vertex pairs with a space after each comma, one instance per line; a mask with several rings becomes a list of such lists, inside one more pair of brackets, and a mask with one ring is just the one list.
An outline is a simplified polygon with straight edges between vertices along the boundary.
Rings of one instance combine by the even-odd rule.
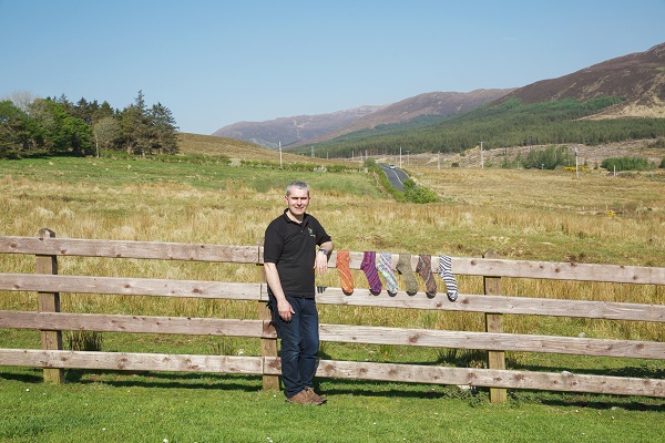
[[260, 357], [0, 349], [0, 365], [262, 374]]

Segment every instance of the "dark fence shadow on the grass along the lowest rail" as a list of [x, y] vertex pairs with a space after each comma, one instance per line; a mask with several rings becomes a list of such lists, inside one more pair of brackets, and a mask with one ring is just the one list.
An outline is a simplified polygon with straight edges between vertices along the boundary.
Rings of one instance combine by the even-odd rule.
[[[513, 368], [541, 372], [560, 372], [561, 368], [522, 367]], [[581, 371], [576, 371], [581, 373]], [[585, 373], [605, 375], [648, 377], [663, 379], [663, 368], [626, 367], [608, 370], [590, 370]], [[8, 380], [27, 384], [43, 382], [41, 368], [6, 368], [0, 372], [0, 381]], [[215, 374], [215, 373], [180, 373], [180, 372], [130, 372], [66, 370], [66, 383], [95, 384], [102, 383], [115, 388], [156, 388], [191, 389], [216, 391], [262, 392], [260, 375]], [[399, 383], [374, 380], [348, 380], [316, 378], [315, 389], [329, 398], [335, 395], [357, 395], [366, 398], [422, 399], [422, 400], [458, 400], [471, 406], [489, 404], [489, 388], [457, 387], [442, 384]], [[665, 412], [665, 399], [623, 396], [593, 393], [570, 393], [538, 390], [508, 390], [508, 408], [523, 408], [529, 404], [543, 404], [553, 408], [585, 408], [594, 410], [648, 411]]]

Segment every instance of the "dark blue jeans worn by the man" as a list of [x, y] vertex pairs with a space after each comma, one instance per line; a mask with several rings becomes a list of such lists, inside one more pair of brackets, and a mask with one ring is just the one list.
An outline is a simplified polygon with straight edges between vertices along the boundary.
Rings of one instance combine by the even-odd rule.
[[290, 321], [284, 321], [277, 312], [277, 301], [270, 297], [273, 323], [282, 339], [282, 381], [287, 398], [305, 388], [311, 388], [316, 372], [319, 347], [318, 311], [314, 299], [289, 297], [287, 301], [296, 312]]

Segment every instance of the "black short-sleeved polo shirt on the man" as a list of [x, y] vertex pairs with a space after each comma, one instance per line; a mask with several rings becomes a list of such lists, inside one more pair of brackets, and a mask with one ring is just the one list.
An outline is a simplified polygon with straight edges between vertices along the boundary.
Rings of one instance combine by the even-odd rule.
[[330, 241], [330, 236], [309, 214], [300, 224], [288, 218], [287, 210], [266, 228], [264, 262], [277, 265], [285, 295], [314, 298], [316, 247]]

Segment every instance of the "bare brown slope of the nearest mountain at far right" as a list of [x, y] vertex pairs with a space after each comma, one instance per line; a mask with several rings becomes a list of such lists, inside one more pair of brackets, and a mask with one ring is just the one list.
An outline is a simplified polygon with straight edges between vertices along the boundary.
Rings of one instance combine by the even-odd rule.
[[520, 99], [523, 103], [542, 103], [570, 97], [585, 102], [607, 95], [625, 100], [589, 119], [665, 117], [665, 43], [532, 83], [500, 102]]

